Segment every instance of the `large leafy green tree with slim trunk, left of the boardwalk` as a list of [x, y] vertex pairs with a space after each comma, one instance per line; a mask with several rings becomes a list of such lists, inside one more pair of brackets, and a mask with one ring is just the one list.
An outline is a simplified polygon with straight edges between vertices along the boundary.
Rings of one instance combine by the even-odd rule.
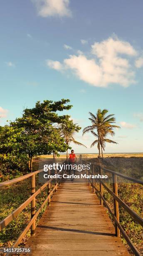
[[53, 102], [44, 100], [36, 103], [35, 108], [25, 109], [22, 118], [12, 122], [12, 127], [23, 128], [22, 148], [28, 155], [28, 167], [32, 171], [33, 156], [64, 152], [67, 144], [61, 138], [56, 124], [63, 123], [68, 115], [58, 115], [57, 111], [69, 110], [72, 105], [65, 105], [69, 100]]

